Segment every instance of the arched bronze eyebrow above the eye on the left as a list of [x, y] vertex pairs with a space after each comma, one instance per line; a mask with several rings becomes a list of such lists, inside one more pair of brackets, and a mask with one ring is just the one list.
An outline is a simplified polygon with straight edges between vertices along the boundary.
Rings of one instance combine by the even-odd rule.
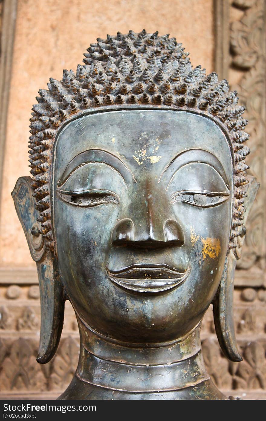
[[130, 169], [121, 161], [119, 157], [111, 154], [103, 149], [88, 149], [76, 155], [70, 163], [68, 163], [61, 179], [58, 181], [58, 187], [68, 179], [69, 176], [79, 167], [88, 163], [104, 163], [112, 167], [115, 171], [119, 172], [126, 184], [130, 184], [132, 179], [137, 182]]

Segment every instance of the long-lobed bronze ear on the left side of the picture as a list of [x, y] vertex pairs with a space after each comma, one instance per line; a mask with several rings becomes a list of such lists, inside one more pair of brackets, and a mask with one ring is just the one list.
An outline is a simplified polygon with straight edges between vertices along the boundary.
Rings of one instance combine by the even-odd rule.
[[58, 261], [45, 249], [39, 212], [32, 196], [31, 177], [20, 177], [11, 193], [18, 218], [24, 229], [29, 251], [36, 261], [41, 299], [40, 346], [37, 361], [41, 364], [53, 358], [58, 347], [64, 320], [65, 297]]

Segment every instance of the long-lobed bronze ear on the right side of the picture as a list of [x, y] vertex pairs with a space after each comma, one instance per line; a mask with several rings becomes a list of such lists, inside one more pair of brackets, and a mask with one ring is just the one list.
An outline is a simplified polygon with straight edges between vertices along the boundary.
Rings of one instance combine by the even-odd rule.
[[247, 197], [245, 198], [245, 217], [243, 220], [243, 229], [241, 237], [237, 237], [238, 246], [230, 250], [226, 257], [224, 272], [216, 296], [213, 300], [213, 317], [216, 335], [225, 356], [231, 361], [242, 361], [242, 357], [237, 349], [237, 341], [234, 331], [234, 272], [237, 260], [241, 256], [241, 248], [245, 239], [245, 224], [248, 213], [258, 192], [259, 183], [253, 176], [246, 176], [249, 180]]

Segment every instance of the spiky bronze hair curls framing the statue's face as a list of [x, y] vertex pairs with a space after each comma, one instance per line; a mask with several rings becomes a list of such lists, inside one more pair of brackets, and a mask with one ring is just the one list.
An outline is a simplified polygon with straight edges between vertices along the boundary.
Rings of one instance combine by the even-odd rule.
[[241, 117], [245, 107], [237, 106], [237, 92], [230, 92], [228, 82], [219, 81], [216, 73], [206, 75], [201, 66], [192, 69], [189, 53], [169, 35], [147, 34], [145, 29], [126, 35], [118, 32], [114, 37], [107, 35], [105, 40], [97, 38], [97, 43], [87, 51], [85, 64], [78, 65], [76, 74], [64, 70], [60, 82], [51, 78], [48, 89], [39, 91], [38, 104], [33, 106], [30, 119], [30, 172], [46, 247], [54, 250], [50, 168], [59, 128], [95, 108], [117, 109], [132, 104], [194, 110], [222, 126], [234, 152], [234, 210], [229, 249], [237, 247], [248, 184], [245, 157], [250, 152], [244, 146], [249, 137], [243, 131], [248, 122]]

